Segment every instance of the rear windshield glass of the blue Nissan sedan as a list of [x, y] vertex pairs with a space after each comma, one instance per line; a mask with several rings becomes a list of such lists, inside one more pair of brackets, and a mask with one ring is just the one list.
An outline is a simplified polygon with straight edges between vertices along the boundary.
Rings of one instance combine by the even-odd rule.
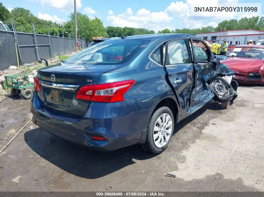
[[73, 55], [63, 63], [89, 64], [121, 64], [131, 59], [149, 40], [112, 40], [100, 42]]

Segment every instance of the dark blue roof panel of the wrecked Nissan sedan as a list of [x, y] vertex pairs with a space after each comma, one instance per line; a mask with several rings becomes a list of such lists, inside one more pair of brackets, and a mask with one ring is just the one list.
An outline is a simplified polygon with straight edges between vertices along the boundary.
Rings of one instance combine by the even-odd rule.
[[180, 38], [180, 37], [199, 38], [195, 35], [188, 35], [188, 34], [144, 34], [144, 35], [132, 35], [132, 36], [124, 36], [124, 37], [122, 36], [121, 38], [116, 38], [113, 40], [151, 40], [152, 41], [152, 40], [157, 40], [157, 39], [164, 38], [164, 37], [168, 37], [169, 39]]

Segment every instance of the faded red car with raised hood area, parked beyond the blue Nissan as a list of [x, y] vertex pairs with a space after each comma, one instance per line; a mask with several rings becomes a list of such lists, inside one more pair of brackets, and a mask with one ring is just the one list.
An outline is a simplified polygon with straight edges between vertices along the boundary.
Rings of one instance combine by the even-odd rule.
[[238, 83], [264, 84], [264, 46], [237, 45], [221, 61], [235, 73]]

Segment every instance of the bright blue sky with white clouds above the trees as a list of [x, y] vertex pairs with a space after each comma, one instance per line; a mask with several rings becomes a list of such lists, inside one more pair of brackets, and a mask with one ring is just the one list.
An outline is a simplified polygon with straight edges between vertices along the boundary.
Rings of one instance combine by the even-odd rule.
[[[14, 7], [23, 7], [33, 15], [44, 20], [64, 22], [73, 12], [73, 0], [0, 0], [11, 11]], [[219, 16], [190, 16], [192, 4], [215, 6], [217, 3], [261, 3], [262, 0], [76, 0], [77, 11], [91, 18], [97, 16], [104, 26], [138, 27], [154, 30], [175, 30], [177, 28], [216, 27], [223, 20], [239, 19], [241, 16], [219, 14]], [[262, 3], [264, 16], [264, 3]], [[252, 17], [255, 14], [245, 14]]]

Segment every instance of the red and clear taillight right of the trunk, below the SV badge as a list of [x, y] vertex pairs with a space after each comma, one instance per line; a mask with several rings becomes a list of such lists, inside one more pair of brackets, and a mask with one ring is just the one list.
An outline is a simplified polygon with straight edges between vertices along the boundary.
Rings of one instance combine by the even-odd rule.
[[77, 99], [112, 103], [124, 101], [124, 94], [135, 83], [135, 80], [112, 82], [83, 86], [76, 94]]

